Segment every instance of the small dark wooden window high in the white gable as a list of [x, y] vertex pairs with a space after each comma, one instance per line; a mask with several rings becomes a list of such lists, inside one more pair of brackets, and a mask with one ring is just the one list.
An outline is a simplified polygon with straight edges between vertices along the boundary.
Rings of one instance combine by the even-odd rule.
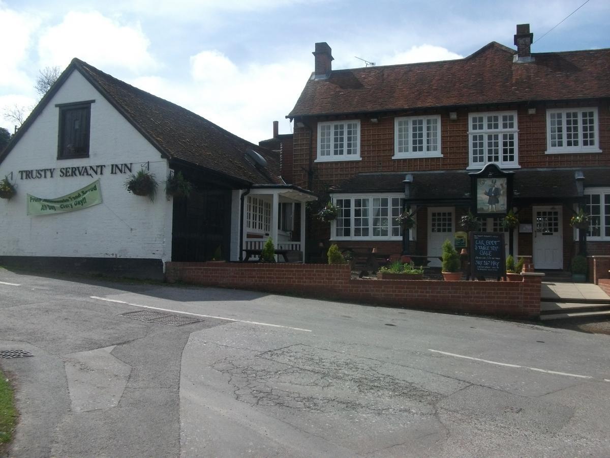
[[66, 103], [59, 107], [57, 159], [89, 157], [89, 130], [93, 101]]

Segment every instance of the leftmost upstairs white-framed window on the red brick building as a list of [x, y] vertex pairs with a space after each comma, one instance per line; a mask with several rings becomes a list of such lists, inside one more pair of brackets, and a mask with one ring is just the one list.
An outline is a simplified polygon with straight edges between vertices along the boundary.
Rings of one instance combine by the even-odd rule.
[[359, 161], [360, 121], [318, 123], [318, 158], [316, 162]]

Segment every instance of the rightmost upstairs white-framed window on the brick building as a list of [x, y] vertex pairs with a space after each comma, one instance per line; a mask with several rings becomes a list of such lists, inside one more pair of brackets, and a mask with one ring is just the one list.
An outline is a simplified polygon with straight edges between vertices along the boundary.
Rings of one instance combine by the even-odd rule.
[[547, 110], [547, 154], [601, 153], [597, 108]]

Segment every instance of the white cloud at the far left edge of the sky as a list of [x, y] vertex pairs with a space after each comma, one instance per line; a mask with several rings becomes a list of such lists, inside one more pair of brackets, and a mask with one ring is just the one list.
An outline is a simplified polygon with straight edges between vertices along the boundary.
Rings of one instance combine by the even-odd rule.
[[20, 91], [30, 89], [32, 81], [22, 67], [27, 64], [32, 34], [39, 23], [32, 15], [2, 8], [0, 4], [0, 43], [3, 44], [0, 87]]

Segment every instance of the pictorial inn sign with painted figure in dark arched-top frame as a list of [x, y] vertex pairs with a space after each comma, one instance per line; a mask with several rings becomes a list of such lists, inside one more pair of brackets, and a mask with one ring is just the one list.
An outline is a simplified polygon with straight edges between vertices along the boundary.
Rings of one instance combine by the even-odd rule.
[[472, 213], [476, 216], [506, 216], [512, 206], [514, 172], [504, 172], [495, 164], [487, 164], [471, 177]]

